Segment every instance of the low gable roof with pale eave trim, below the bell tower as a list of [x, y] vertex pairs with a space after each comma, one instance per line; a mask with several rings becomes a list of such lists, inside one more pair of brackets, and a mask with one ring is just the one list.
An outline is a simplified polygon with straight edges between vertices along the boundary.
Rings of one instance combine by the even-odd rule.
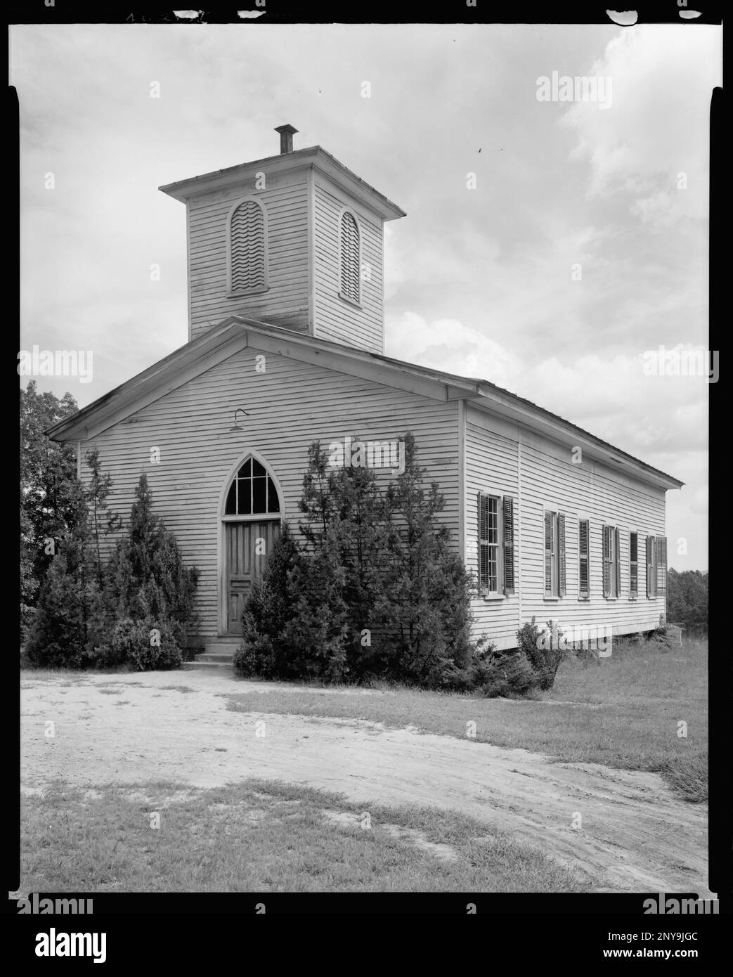
[[241, 316], [231, 316], [212, 326], [203, 335], [153, 363], [104, 397], [65, 417], [46, 433], [54, 441], [87, 441], [248, 346], [360, 376], [437, 401], [471, 401], [479, 408], [539, 432], [551, 440], [561, 443], [571, 440], [574, 446], [581, 446], [588, 457], [650, 485], [658, 488], [681, 488], [684, 485], [558, 414], [518, 397], [489, 380], [457, 376]]

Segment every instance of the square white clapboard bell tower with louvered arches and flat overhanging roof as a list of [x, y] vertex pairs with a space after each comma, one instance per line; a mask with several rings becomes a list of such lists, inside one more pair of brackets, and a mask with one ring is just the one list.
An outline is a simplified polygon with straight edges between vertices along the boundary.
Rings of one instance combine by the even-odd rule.
[[384, 351], [384, 222], [405, 212], [319, 146], [168, 184], [186, 204], [189, 339], [238, 315]]

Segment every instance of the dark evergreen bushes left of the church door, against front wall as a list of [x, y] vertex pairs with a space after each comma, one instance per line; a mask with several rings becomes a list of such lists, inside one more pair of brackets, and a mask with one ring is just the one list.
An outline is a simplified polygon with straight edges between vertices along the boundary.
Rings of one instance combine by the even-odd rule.
[[102, 541], [119, 527], [108, 508], [111, 482], [89, 452], [89, 487], [76, 486], [76, 515], [41, 588], [24, 649], [53, 667], [177, 668], [194, 622], [198, 572], [152, 510], [145, 474], [127, 530], [108, 560]]

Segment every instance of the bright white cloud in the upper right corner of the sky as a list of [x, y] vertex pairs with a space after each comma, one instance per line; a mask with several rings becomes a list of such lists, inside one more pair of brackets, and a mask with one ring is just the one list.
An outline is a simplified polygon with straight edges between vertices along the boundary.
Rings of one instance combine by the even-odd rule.
[[[573, 155], [590, 161], [591, 196], [625, 191], [631, 213], [661, 225], [707, 217], [719, 43], [714, 27], [645, 24], [608, 44], [591, 73], [613, 79], [613, 106], [598, 111], [592, 103], [575, 103], [562, 119], [577, 135]], [[677, 190], [680, 174], [687, 190]]]

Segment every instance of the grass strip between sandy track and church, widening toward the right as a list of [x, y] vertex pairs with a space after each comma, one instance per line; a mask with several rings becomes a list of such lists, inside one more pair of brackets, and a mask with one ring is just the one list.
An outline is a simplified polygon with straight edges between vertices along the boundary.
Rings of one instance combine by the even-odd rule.
[[[553, 760], [660, 773], [690, 801], [707, 800], [708, 642], [682, 648], [614, 645], [610, 658], [569, 659], [537, 700], [476, 699], [400, 689], [360, 696], [346, 690], [233, 693], [242, 712], [366, 719], [425, 733], [523, 748]], [[678, 736], [680, 722], [686, 737]]]

